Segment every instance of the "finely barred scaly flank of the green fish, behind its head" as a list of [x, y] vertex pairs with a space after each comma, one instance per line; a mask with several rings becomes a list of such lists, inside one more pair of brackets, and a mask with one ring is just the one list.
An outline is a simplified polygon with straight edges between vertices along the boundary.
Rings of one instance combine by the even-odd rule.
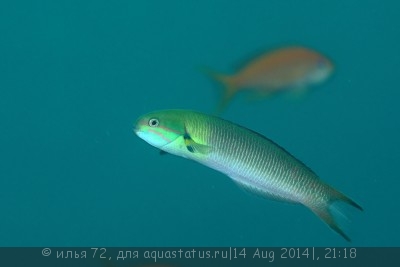
[[[186, 124], [189, 132], [191, 121], [204, 120], [201, 116], [197, 120], [194, 119], [195, 117], [193, 116]], [[207, 124], [210, 134], [204, 137], [206, 143], [213, 149], [206, 159], [201, 160], [204, 161], [203, 164], [228, 174], [233, 179], [235, 176], [240, 176], [245, 177], [246, 182], [249, 183], [255, 181], [260, 184], [263, 182], [261, 184], [265, 186], [268, 193], [282, 196], [282, 199], [289, 202], [300, 202], [307, 199], [317, 201], [314, 192], [316, 188], [321, 190], [319, 197], [323, 199], [320, 201], [329, 199], [330, 188], [319, 180], [307, 166], [271, 140], [241, 126], [235, 127], [216, 117], [207, 117]], [[200, 125], [200, 123], [196, 122], [194, 125]], [[204, 127], [196, 127], [196, 129], [204, 129]], [[193, 136], [196, 136], [196, 130], [193, 133]], [[196, 158], [193, 159], [196, 160]], [[233, 162], [237, 162], [236, 168], [234, 168], [235, 165], [232, 166]], [[293, 175], [290, 169], [296, 166], [299, 173]], [[301, 186], [307, 182], [310, 186]], [[313, 183], [314, 186], [311, 186]]]

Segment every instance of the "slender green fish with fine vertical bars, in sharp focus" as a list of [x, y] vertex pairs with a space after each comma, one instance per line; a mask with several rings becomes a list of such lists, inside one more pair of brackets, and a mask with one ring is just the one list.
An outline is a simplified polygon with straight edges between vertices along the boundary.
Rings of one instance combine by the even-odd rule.
[[140, 116], [134, 132], [151, 146], [227, 175], [246, 191], [306, 206], [351, 241], [330, 206], [341, 201], [363, 208], [267, 137], [214, 115], [179, 109]]

